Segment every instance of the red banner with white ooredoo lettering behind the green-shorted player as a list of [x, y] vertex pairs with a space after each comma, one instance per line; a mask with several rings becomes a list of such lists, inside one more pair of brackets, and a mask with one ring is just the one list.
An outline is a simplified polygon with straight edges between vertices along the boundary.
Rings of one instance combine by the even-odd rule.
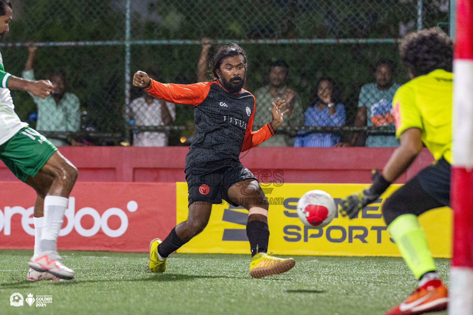
[[[58, 249], [148, 252], [175, 226], [175, 183], [78, 182], [71, 192]], [[0, 248], [32, 249], [36, 194], [0, 181]]]

